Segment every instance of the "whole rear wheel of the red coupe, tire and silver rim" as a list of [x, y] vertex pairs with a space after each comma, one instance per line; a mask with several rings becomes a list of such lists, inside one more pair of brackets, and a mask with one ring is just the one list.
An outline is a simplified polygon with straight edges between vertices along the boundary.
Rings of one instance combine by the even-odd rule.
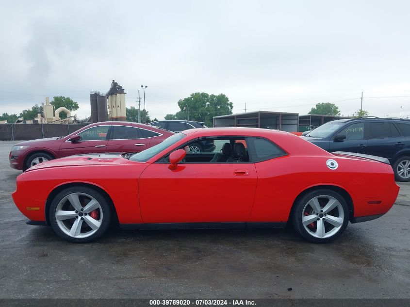
[[326, 243], [339, 237], [349, 222], [344, 198], [331, 190], [316, 190], [295, 203], [293, 225], [305, 239]]

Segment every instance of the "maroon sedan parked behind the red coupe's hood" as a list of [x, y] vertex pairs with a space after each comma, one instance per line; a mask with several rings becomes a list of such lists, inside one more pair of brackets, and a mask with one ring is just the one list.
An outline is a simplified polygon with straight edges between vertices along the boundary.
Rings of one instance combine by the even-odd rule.
[[17, 143], [11, 149], [10, 166], [26, 170], [38, 163], [66, 156], [140, 152], [164, 141], [174, 132], [131, 122], [100, 122], [85, 126], [65, 137]]

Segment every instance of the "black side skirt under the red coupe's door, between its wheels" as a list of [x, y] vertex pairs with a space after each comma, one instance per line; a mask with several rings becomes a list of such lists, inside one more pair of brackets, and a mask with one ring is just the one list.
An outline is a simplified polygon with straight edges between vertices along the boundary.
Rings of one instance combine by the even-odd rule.
[[255, 229], [283, 228], [286, 222], [212, 222], [212, 223], [147, 223], [120, 224], [121, 229]]

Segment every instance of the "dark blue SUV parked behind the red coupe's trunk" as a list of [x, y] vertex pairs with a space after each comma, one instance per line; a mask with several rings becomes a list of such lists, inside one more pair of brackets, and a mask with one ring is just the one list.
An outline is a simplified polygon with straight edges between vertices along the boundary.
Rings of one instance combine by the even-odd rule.
[[361, 117], [328, 122], [303, 137], [329, 152], [348, 151], [389, 159], [398, 181], [410, 181], [410, 120]]

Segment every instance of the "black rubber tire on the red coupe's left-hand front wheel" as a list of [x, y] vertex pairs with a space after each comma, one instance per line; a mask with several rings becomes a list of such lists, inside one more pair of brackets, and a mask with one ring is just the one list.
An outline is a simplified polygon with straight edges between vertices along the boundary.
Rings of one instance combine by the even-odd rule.
[[[87, 204], [87, 198], [88, 196], [91, 196], [92, 198], [94, 198], [98, 204], [99, 207], [97, 210], [97, 212], [95, 212], [94, 214], [99, 215], [99, 219], [95, 219], [97, 222], [99, 222], [100, 226], [98, 226], [97, 230], [92, 229], [88, 224], [88, 219], [87, 219], [87, 215], [89, 215], [89, 217], [91, 217], [91, 214], [87, 214], [85, 211], [84, 213], [79, 211], [78, 212], [78, 216], [71, 218], [71, 219], [66, 219], [64, 220], [65, 223], [68, 225], [62, 225], [61, 221], [59, 222], [60, 224], [58, 224], [57, 222], [57, 218], [56, 218], [56, 210], [57, 207], [60, 207], [62, 205], [60, 205], [60, 201], [62, 201], [64, 198], [66, 198], [66, 196], [69, 197], [69, 195], [73, 195], [73, 194], [80, 194], [79, 195], [79, 201], [80, 201], [80, 205], [82, 206], [82, 208], [86, 207]], [[85, 196], [88, 195], [88, 196]], [[70, 207], [71, 202], [68, 201], [68, 203], [66, 201], [62, 202], [64, 205], [69, 207], [68, 210], [73, 210], [74, 206]], [[63, 207], [64, 208], [64, 207]], [[60, 209], [59, 209], [60, 210]], [[94, 210], [95, 211], [95, 210]], [[51, 227], [53, 228], [54, 232], [61, 238], [69, 241], [69, 242], [74, 242], [74, 243], [86, 243], [86, 242], [92, 242], [97, 240], [99, 237], [101, 237], [104, 232], [107, 230], [108, 226], [110, 225], [110, 220], [111, 220], [111, 210], [110, 210], [110, 205], [108, 204], [107, 199], [98, 191], [96, 191], [95, 189], [89, 188], [89, 187], [83, 187], [83, 186], [74, 186], [74, 187], [70, 187], [67, 188], [63, 191], [61, 191], [59, 194], [57, 194], [54, 199], [51, 202], [50, 205], [50, 209], [49, 209], [49, 220], [50, 220], [50, 224]], [[86, 235], [86, 230], [91, 229], [91, 233], [90, 235], [87, 235], [86, 237], [83, 238], [75, 238], [73, 236], [68, 235], [66, 232], [69, 231], [69, 225], [71, 224], [72, 226], [74, 226], [74, 223], [76, 223], [76, 220], [82, 220], [81, 221], [81, 225], [80, 225], [80, 236], [82, 235], [81, 231], [84, 230], [84, 235]], [[78, 223], [80, 223], [80, 221], [78, 221]], [[60, 225], [60, 226], [59, 226]], [[64, 230], [63, 230], [64, 229]], [[93, 233], [93, 231], [95, 230], [95, 232]], [[65, 232], [66, 231], [66, 232]]]

